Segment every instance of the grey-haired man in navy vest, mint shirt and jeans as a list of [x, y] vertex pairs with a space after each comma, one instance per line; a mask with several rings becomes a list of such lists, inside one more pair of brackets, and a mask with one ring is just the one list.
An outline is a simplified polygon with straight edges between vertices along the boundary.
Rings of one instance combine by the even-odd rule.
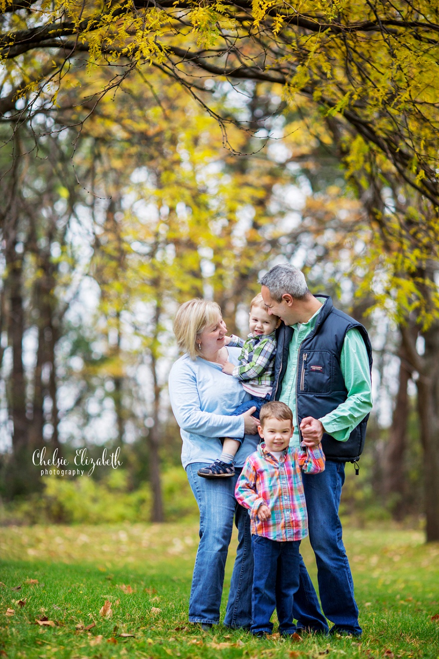
[[[279, 316], [272, 398], [294, 415], [292, 445], [322, 442], [323, 473], [303, 476], [309, 539], [317, 562], [319, 594], [329, 633], [361, 635], [338, 507], [344, 463], [363, 449], [372, 409], [372, 349], [367, 331], [334, 308], [327, 296], [311, 295], [300, 270], [281, 264], [261, 279], [269, 313]], [[328, 633], [303, 560], [294, 597], [297, 631]]]

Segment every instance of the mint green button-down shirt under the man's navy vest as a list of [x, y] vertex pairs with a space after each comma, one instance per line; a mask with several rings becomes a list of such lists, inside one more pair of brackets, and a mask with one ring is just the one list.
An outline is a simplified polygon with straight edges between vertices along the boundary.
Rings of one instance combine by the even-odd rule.
[[[324, 299], [318, 298], [320, 302]], [[297, 384], [297, 356], [300, 345], [313, 331], [317, 322], [317, 310], [307, 323], [292, 325], [295, 330], [290, 341], [288, 364], [282, 380], [282, 390], [279, 400], [286, 403], [293, 412], [294, 434], [290, 445], [297, 447], [301, 442], [296, 415], [296, 384]], [[371, 374], [369, 370], [369, 357], [363, 338], [358, 329], [352, 328], [346, 333], [340, 355], [340, 368], [342, 370], [348, 397], [329, 414], [319, 420], [324, 431], [339, 442], [349, 439], [353, 428], [365, 418], [372, 409]]]

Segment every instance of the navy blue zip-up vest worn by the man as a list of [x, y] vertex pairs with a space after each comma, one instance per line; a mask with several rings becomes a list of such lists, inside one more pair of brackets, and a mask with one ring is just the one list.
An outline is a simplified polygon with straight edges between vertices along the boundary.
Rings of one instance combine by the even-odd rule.
[[[369, 365], [372, 368], [372, 347], [363, 326], [344, 312], [334, 308], [332, 300], [326, 301], [317, 316], [313, 331], [302, 341], [297, 355], [296, 405], [297, 423], [305, 416], [321, 418], [332, 412], [348, 397], [340, 368], [340, 355], [344, 337], [349, 329], [356, 328], [365, 342]], [[274, 387], [272, 398], [278, 400], [288, 362], [288, 349], [294, 329], [282, 324], [278, 330], [278, 346], [274, 363]], [[347, 442], [338, 442], [328, 434], [323, 435], [322, 445], [326, 459], [348, 462], [359, 458], [366, 436], [367, 415], [351, 432]]]

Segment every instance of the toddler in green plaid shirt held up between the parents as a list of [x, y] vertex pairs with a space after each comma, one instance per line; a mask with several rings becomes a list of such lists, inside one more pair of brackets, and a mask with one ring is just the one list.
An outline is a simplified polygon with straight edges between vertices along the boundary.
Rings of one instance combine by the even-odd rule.
[[[249, 329], [247, 339], [232, 334], [226, 337], [226, 345], [239, 346], [240, 365], [234, 366], [229, 361], [222, 364], [222, 371], [228, 373], [242, 382], [245, 391], [251, 399], [245, 401], [235, 411], [239, 416], [251, 407], [256, 410], [253, 416], [259, 418], [259, 410], [271, 397], [274, 382], [274, 356], [276, 355], [275, 331], [280, 324], [280, 318], [269, 314], [261, 293], [250, 302]], [[203, 478], [228, 478], [234, 476], [234, 457], [243, 440], [238, 438], [224, 438], [222, 453], [209, 467], [203, 467], [197, 472]]]

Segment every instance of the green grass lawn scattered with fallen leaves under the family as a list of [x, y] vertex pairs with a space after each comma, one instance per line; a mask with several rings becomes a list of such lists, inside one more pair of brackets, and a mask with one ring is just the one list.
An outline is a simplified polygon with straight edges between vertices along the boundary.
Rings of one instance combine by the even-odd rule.
[[[344, 540], [363, 637], [293, 643], [276, 634], [253, 639], [221, 625], [208, 632], [188, 625], [196, 523], [5, 527], [0, 659], [438, 659], [439, 545], [423, 544], [419, 532], [390, 529], [346, 527]], [[312, 552], [307, 542], [302, 547], [314, 578]]]

